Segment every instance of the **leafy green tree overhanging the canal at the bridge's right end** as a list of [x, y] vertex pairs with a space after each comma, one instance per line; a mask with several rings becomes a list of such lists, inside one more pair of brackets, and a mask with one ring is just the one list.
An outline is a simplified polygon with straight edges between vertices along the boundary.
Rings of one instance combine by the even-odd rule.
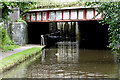
[[120, 2], [87, 2], [85, 5], [91, 5], [91, 7], [97, 5], [98, 8], [96, 8], [96, 11], [98, 11], [98, 14], [100, 14], [101, 11], [103, 12], [103, 19], [99, 22], [103, 25], [109, 25], [108, 47], [112, 49], [116, 57], [119, 57], [120, 48], [116, 45], [120, 45], [120, 36], [118, 36], [118, 34], [120, 34]]

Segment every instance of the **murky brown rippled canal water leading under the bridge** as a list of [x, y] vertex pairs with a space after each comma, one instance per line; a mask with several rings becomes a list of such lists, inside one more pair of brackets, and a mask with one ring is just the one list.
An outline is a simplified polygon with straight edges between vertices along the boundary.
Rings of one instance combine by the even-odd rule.
[[79, 49], [77, 42], [58, 42], [1, 78], [118, 78], [118, 64], [110, 50]]

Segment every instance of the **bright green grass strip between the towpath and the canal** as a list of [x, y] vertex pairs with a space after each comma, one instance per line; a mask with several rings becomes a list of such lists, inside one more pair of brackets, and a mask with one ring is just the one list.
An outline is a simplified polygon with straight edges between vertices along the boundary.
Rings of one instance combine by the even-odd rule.
[[41, 49], [42, 48], [40, 48], [40, 47], [34, 47], [34, 48], [24, 50], [22, 52], [12, 54], [12, 55], [7, 56], [5, 58], [2, 58], [0, 60], [1, 71], [9, 69], [10, 67], [12, 67], [14, 65], [19, 64], [20, 62], [23, 62], [25, 59], [27, 59], [30, 56], [34, 56], [34, 54], [39, 52]]

